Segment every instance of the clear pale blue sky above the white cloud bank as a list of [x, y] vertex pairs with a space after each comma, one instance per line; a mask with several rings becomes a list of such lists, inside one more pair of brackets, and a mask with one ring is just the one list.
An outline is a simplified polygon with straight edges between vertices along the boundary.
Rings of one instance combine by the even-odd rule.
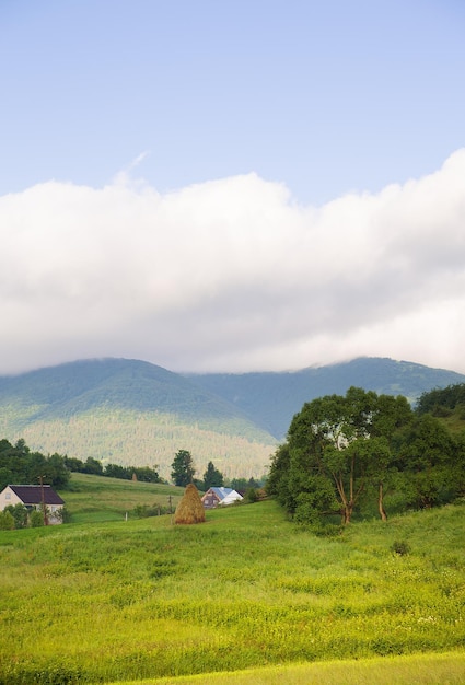
[[161, 191], [253, 171], [321, 204], [463, 144], [462, 2], [1, 4], [1, 193], [101, 187], [147, 152]]

